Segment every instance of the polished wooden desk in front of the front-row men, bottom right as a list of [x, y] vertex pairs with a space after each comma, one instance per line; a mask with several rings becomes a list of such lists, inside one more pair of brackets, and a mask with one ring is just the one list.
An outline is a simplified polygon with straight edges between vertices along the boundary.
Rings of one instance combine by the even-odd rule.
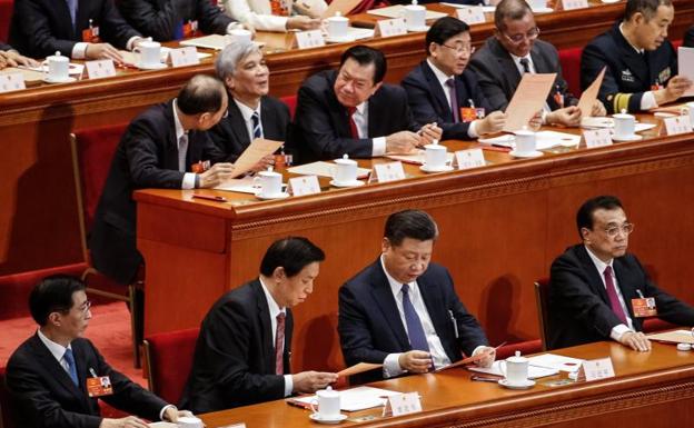
[[[349, 412], [350, 418], [364, 415], [378, 418], [363, 424], [348, 420], [340, 426], [671, 428], [688, 426], [694, 418], [692, 352], [654, 344], [651, 352], [640, 354], [616, 342], [597, 342], [554, 354], [585, 359], [609, 356], [616, 377], [554, 388], [538, 382], [528, 390], [508, 390], [494, 384], [470, 381], [470, 374], [460, 368], [409, 376], [373, 386], [401, 392], [418, 391], [423, 412], [398, 418], [380, 418], [380, 408]], [[309, 410], [277, 400], [201, 418], [209, 428], [235, 422], [245, 422], [248, 428], [316, 427], [308, 415]]]

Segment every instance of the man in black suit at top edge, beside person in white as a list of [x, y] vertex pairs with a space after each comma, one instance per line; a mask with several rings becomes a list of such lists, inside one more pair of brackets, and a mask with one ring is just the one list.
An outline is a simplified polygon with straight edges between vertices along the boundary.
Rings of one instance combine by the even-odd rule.
[[158, 41], [182, 39], [184, 26], [207, 34], [242, 28], [210, 0], [118, 0], [118, 9], [132, 27]]

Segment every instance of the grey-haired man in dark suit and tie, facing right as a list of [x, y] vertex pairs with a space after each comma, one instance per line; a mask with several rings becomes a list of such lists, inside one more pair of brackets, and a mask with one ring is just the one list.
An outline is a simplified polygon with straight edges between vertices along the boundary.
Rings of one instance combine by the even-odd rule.
[[[217, 147], [235, 161], [256, 138], [285, 141], [289, 108], [267, 94], [270, 72], [260, 49], [250, 41], [229, 44], [217, 57], [215, 68], [229, 93], [227, 117], [210, 130]], [[261, 159], [254, 170], [266, 169], [274, 159]]]

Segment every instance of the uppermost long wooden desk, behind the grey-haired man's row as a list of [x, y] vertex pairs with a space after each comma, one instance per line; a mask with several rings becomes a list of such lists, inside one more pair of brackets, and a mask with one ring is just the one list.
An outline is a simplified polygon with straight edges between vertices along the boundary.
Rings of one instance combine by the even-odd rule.
[[[673, 40], [694, 21], [694, 2], [674, 0]], [[452, 8], [432, 6], [453, 12]], [[624, 2], [537, 16], [542, 39], [558, 48], [579, 47], [618, 19]], [[492, 23], [472, 27], [475, 46], [493, 33]], [[398, 82], [424, 59], [424, 33], [363, 42], [383, 49], [388, 58], [386, 80]], [[259, 33], [272, 72], [271, 93], [296, 93], [301, 81], [336, 67], [349, 44], [320, 49], [289, 49], [290, 34]], [[76, 192], [69, 133], [90, 127], [127, 123], [156, 102], [176, 96], [196, 73], [211, 73], [212, 60], [161, 71], [120, 70], [119, 76], [70, 84], [40, 84], [0, 94], [0, 275], [80, 261]]]

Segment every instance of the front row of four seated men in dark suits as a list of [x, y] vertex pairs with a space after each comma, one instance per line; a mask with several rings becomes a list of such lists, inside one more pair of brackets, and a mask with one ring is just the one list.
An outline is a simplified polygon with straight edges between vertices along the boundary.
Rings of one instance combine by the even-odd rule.
[[[634, 225], [616, 197], [584, 202], [576, 226], [582, 242], [551, 268], [549, 348], [612, 339], [648, 352], [634, 306], [644, 297], [655, 300], [661, 318], [694, 325], [694, 308], [658, 289], [627, 252]], [[357, 382], [424, 374], [465, 355], [477, 356], [484, 367], [493, 364], [494, 348], [448, 270], [430, 261], [437, 238], [428, 213], [390, 215], [380, 255], [340, 287], [337, 329], [345, 364], [383, 364]], [[338, 380], [333, 372], [290, 367], [293, 310], [310, 297], [325, 258], [306, 238], [280, 239], [266, 251], [257, 278], [215, 302], [201, 322], [181, 408], [217, 411], [313, 392]], [[176, 421], [188, 415], [113, 370], [82, 337], [91, 312], [78, 279], [44, 279], [31, 292], [30, 310], [39, 328], [7, 367], [18, 427], [147, 427], [135, 416], [101, 418], [97, 397], [87, 395], [89, 381], [111, 385], [97, 396], [141, 418]]]

